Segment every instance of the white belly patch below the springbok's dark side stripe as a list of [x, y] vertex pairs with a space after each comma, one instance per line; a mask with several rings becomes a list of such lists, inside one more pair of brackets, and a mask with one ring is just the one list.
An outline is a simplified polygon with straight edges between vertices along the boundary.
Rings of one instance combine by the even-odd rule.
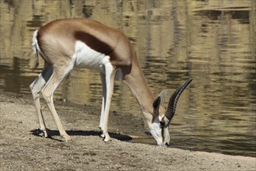
[[94, 51], [80, 40], [75, 42], [75, 67], [76, 68], [90, 68], [103, 72], [103, 65], [110, 62], [110, 57]]

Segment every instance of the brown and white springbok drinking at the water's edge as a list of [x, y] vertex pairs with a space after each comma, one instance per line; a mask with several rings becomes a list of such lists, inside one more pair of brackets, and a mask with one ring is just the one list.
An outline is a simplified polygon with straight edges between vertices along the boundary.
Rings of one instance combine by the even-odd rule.
[[90, 68], [100, 72], [103, 87], [100, 114], [101, 137], [109, 141], [107, 132], [110, 101], [114, 89], [114, 77], [121, 79], [132, 90], [157, 145], [170, 142], [168, 127], [174, 117], [177, 100], [192, 79], [187, 79], [170, 97], [167, 112], [162, 106], [166, 91], [154, 99], [139, 65], [135, 49], [121, 31], [104, 26], [91, 19], [58, 19], [40, 27], [33, 33], [33, 51], [37, 54], [35, 68], [39, 65], [38, 54], [44, 58], [43, 71], [30, 85], [39, 118], [40, 130], [47, 137], [47, 129], [40, 110], [40, 92], [51, 111], [58, 131], [65, 141], [71, 138], [61, 124], [54, 107], [53, 94], [72, 68]]

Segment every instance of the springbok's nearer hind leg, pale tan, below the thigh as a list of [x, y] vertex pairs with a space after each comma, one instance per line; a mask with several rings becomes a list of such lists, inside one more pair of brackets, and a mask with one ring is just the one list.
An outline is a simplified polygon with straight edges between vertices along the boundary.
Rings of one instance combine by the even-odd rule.
[[[58, 131], [60, 132], [61, 136], [65, 138], [65, 141], [70, 141], [71, 138], [66, 133], [65, 128], [61, 124], [61, 120], [58, 117], [58, 113], [55, 110], [54, 102], [53, 102], [53, 94], [54, 94], [55, 89], [57, 89], [58, 85], [61, 83], [62, 79], [65, 78], [65, 75], [67, 75], [71, 69], [72, 68], [69, 68], [69, 70], [65, 69], [64, 70], [65, 72], [63, 72], [63, 71], [61, 71], [60, 68], [58, 68], [58, 70], [57, 70], [58, 72], [56, 72], [56, 71], [53, 72], [53, 74], [51, 75], [51, 78], [47, 82], [46, 86], [44, 86], [44, 89], [41, 91], [42, 95], [44, 96], [44, 100], [47, 102], [47, 106], [48, 106], [52, 116], [54, 117], [54, 122], [58, 127]], [[65, 74], [63, 74], [63, 73], [65, 73]]]

